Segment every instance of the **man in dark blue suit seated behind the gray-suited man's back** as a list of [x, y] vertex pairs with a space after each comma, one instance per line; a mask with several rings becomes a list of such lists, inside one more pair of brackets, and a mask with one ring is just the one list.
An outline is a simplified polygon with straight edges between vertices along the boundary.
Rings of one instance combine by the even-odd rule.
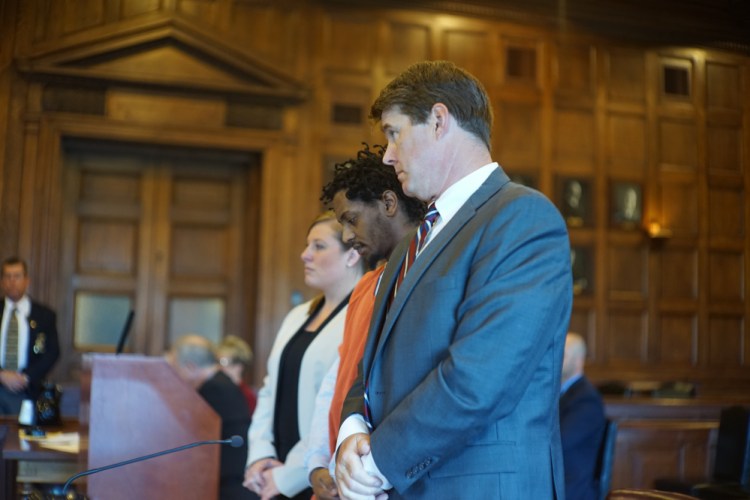
[[577, 333], [568, 333], [563, 357], [560, 394], [560, 435], [565, 463], [565, 498], [597, 500], [596, 462], [604, 437], [604, 404], [583, 374], [586, 344]]

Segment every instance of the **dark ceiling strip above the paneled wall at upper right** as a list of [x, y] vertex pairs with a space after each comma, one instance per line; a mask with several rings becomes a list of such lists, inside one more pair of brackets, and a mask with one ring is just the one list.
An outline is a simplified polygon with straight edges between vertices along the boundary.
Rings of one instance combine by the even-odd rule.
[[750, 54], [750, 0], [324, 0], [582, 30], [623, 41]]

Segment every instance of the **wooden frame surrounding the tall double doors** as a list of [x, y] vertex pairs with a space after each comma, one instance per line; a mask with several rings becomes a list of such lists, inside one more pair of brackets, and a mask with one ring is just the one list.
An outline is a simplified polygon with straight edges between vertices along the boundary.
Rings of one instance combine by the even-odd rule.
[[[65, 291], [68, 285], [62, 282], [66, 270], [60, 266], [61, 241], [64, 237], [61, 231], [64, 203], [63, 140], [67, 138], [178, 148], [199, 147], [260, 156], [260, 168], [254, 169], [259, 177], [258, 196], [248, 193], [248, 208], [253, 215], [247, 221], [256, 228], [259, 247], [248, 249], [246, 255], [254, 265], [245, 266], [241, 279], [245, 282], [246, 317], [254, 317], [245, 325], [252, 333], [251, 345], [256, 359], [267, 357], [276, 327], [288, 312], [287, 301], [278, 300], [278, 297], [289, 297], [294, 288], [294, 283], [279, 280], [278, 273], [274, 272], [277, 267], [287, 267], [284, 260], [289, 260], [288, 254], [280, 251], [275, 244], [281, 236], [274, 231], [273, 221], [269, 221], [269, 214], [274, 214], [278, 204], [284, 200], [283, 197], [263, 194], [276, 188], [274, 183], [278, 182], [279, 171], [295, 165], [296, 151], [289, 148], [294, 141], [288, 134], [240, 129], [200, 132], [164, 130], [141, 124], [114, 123], [98, 117], [54, 114], [43, 115], [38, 126], [29, 126], [25, 132], [28, 154], [24, 155], [23, 168], [28, 175], [23, 177], [21, 195], [31, 201], [21, 205], [18, 248], [19, 254], [26, 256], [29, 263], [34, 297], [58, 312], [62, 355], [51, 374], [53, 379], [77, 381], [81, 363], [80, 353], [73, 348], [73, 332], [60, 328], [60, 325], [72, 325], [73, 314], [73, 304]], [[255, 363], [251, 380], [260, 381], [264, 372], [264, 363]]]

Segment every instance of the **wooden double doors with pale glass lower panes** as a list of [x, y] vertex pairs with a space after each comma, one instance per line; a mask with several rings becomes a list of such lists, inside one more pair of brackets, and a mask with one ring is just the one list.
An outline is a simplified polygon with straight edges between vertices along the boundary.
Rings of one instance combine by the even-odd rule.
[[61, 322], [75, 353], [113, 351], [131, 309], [126, 351], [158, 355], [188, 332], [250, 342], [257, 158], [73, 144], [65, 164]]

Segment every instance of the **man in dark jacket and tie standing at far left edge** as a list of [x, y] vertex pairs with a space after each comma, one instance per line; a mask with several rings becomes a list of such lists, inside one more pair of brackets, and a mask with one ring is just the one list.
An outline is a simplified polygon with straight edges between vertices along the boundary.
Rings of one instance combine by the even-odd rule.
[[60, 355], [55, 312], [29, 298], [29, 273], [18, 257], [2, 264], [0, 311], [0, 414], [18, 415], [24, 399], [36, 399]]

